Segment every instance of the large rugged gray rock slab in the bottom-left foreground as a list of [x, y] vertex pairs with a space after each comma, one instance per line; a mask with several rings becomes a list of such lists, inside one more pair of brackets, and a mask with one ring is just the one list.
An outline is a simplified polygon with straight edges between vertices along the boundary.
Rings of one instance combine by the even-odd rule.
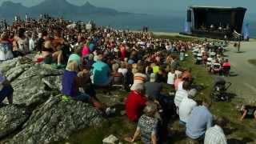
[[77, 130], [89, 126], [101, 126], [101, 112], [87, 103], [62, 102], [50, 97], [40, 108], [33, 111], [23, 130], [10, 140], [10, 143], [50, 143], [70, 137]]

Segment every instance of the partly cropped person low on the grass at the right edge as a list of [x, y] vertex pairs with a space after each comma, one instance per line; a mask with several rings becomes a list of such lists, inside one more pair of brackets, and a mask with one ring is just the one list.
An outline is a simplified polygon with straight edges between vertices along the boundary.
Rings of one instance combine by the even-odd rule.
[[242, 106], [240, 110], [242, 117], [240, 120], [242, 121], [244, 118], [255, 118], [256, 119], [256, 106]]

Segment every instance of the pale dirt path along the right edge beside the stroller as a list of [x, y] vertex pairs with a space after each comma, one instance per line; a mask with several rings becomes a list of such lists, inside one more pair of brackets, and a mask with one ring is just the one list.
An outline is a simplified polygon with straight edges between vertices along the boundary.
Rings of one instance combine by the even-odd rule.
[[230, 45], [227, 50], [229, 51], [225, 55], [230, 59], [231, 72], [238, 74], [226, 78], [233, 83], [230, 91], [246, 102], [256, 101], [256, 66], [248, 62], [249, 59], [256, 59], [256, 42], [242, 42], [242, 53], [237, 53], [233, 45]]

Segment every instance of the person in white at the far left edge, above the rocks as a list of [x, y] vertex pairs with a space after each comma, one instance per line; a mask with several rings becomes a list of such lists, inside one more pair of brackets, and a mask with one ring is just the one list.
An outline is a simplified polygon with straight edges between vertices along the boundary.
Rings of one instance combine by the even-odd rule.
[[11, 48], [11, 44], [8, 41], [8, 34], [6, 32], [2, 33], [0, 41], [0, 61], [14, 58]]

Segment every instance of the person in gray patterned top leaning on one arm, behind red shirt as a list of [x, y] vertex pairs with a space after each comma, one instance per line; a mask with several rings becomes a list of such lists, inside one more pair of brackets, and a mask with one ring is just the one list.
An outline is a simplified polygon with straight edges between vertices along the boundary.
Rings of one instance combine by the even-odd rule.
[[138, 120], [138, 126], [133, 138], [125, 138], [127, 142], [135, 142], [141, 135], [141, 140], [145, 144], [156, 144], [158, 136], [158, 119], [155, 114], [158, 112], [158, 105], [150, 102], [143, 110], [144, 114]]

